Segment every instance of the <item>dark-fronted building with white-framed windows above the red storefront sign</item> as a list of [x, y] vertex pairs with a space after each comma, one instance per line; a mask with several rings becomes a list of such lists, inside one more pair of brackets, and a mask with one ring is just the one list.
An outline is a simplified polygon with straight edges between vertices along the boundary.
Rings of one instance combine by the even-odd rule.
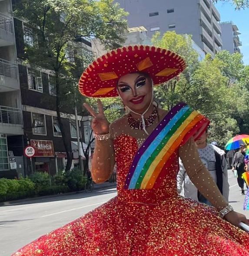
[[[32, 145], [35, 155], [31, 161], [27, 161], [27, 173], [45, 171], [49, 174], [63, 170], [66, 165], [66, 150], [63, 144], [60, 126], [56, 114], [56, 90], [53, 72], [50, 70], [35, 70], [30, 66], [21, 64], [24, 47], [32, 44], [33, 40], [25, 33], [23, 21], [14, 18], [14, 27], [17, 42], [17, 57], [19, 59], [18, 70], [20, 75], [20, 91], [22, 97], [24, 145]], [[87, 38], [80, 38], [75, 44], [91, 50], [91, 43]], [[73, 55], [68, 53], [70, 60]], [[66, 143], [73, 152], [73, 167], [79, 166], [79, 155], [84, 160], [83, 148], [85, 141], [90, 141], [89, 116], [78, 116], [77, 120], [83, 133], [83, 147], [80, 142], [80, 154], [78, 150], [76, 133], [76, 115], [74, 104], [64, 107], [61, 112], [64, 128], [66, 130]]]

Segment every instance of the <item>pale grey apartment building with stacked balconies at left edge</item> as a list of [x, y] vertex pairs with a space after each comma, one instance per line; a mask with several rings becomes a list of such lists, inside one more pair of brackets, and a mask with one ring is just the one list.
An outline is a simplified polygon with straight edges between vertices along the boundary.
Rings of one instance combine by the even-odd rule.
[[10, 0], [0, 0], [0, 178], [24, 175], [23, 118]]

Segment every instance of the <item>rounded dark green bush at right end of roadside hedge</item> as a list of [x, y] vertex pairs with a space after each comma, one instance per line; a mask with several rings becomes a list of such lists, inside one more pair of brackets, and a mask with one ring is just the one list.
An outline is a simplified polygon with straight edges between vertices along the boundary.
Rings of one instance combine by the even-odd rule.
[[83, 176], [78, 168], [73, 168], [66, 173], [67, 185], [71, 191], [79, 191], [85, 188], [87, 177]]

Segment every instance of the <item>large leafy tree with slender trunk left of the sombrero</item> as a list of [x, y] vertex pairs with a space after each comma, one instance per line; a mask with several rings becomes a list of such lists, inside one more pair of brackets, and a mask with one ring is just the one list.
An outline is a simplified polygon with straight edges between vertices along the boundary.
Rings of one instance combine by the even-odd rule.
[[[106, 48], [115, 48], [125, 40], [126, 12], [112, 2], [20, 0], [14, 5], [15, 17], [25, 20], [25, 33], [33, 38], [24, 57], [36, 68], [53, 71], [56, 113], [67, 155], [66, 171], [72, 164], [72, 152], [60, 113], [65, 104], [76, 101], [78, 92], [74, 92], [80, 74], [92, 57], [82, 42], [96, 37]], [[82, 97], [76, 104], [81, 103]]]

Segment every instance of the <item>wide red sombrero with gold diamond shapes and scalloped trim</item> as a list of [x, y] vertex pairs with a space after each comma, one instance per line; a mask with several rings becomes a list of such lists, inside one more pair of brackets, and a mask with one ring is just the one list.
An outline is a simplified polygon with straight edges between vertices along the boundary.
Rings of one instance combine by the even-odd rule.
[[186, 67], [185, 61], [166, 49], [133, 45], [110, 51], [93, 61], [80, 77], [79, 91], [87, 97], [116, 97], [117, 80], [125, 74], [148, 73], [154, 85], [176, 77]]

